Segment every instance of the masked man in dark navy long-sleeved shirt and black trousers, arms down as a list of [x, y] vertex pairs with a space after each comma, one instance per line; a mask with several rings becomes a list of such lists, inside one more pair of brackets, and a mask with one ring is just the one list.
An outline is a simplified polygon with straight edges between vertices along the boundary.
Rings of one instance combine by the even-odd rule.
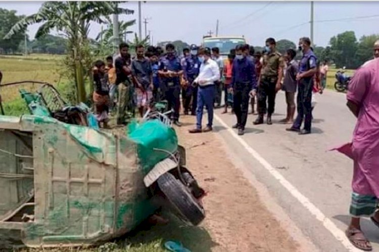
[[254, 62], [247, 57], [249, 47], [237, 45], [231, 74], [230, 88], [233, 91], [233, 107], [237, 123], [233, 129], [238, 129], [238, 135], [245, 134], [248, 118], [249, 97], [256, 94], [256, 76]]

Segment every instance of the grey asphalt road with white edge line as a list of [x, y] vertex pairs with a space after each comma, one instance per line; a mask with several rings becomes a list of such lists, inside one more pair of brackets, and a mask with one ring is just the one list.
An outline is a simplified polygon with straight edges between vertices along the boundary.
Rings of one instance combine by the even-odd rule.
[[[331, 91], [318, 95], [312, 134], [305, 136], [286, 132], [288, 125], [278, 123], [286, 113], [282, 92], [276, 98], [274, 124], [253, 125], [256, 115], [249, 114], [242, 137], [231, 129], [235, 116], [221, 112], [215, 112], [217, 135], [303, 234], [321, 251], [356, 251], [343, 233], [349, 222], [352, 161], [327, 151], [352, 138], [356, 120], [346, 107], [346, 96]], [[378, 228], [368, 219], [361, 225], [373, 250], [379, 251]]]

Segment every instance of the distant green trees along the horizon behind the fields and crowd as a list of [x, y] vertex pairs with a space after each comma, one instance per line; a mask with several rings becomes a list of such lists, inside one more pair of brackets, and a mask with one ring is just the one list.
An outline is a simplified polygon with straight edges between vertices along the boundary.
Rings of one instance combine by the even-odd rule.
[[[0, 8], [0, 53], [22, 53], [24, 52], [24, 39], [26, 29], [20, 29], [16, 34], [12, 36], [11, 39], [4, 39], [4, 36], [9, 32], [9, 30], [20, 20], [25, 18], [24, 16], [16, 15], [16, 11], [9, 11]], [[135, 23], [134, 20], [121, 24], [120, 29], [120, 40], [127, 33], [128, 27]], [[112, 50], [112, 24], [106, 23], [108, 28], [103, 30], [98, 38], [97, 43], [93, 42], [90, 44], [96, 45], [98, 49], [106, 50], [105, 48]], [[149, 38], [145, 38], [139, 41], [134, 36], [133, 41], [128, 41], [131, 45], [136, 45], [137, 43], [148, 44]], [[362, 65], [365, 61], [372, 58], [373, 54], [373, 44], [379, 39], [379, 34], [373, 34], [369, 36], [362, 36], [357, 40], [354, 31], [346, 31], [330, 38], [329, 45], [326, 47], [314, 45], [313, 49], [317, 57], [322, 61], [324, 59], [329, 60], [329, 62], [336, 65], [337, 68], [345, 66], [348, 69], [356, 69]], [[90, 40], [95, 41], [95, 40]], [[189, 45], [181, 40], [176, 41], [165, 41], [158, 43], [159, 46], [164, 47], [168, 42], [175, 45], [176, 50], [180, 53], [181, 50]], [[29, 40], [27, 37], [27, 49], [29, 53], [51, 53], [51, 54], [67, 54], [67, 43], [68, 40], [59, 36], [53, 36], [50, 34], [45, 34], [43, 36], [38, 36], [34, 40]], [[99, 46], [101, 44], [102, 46]], [[276, 47], [280, 53], [285, 53], [287, 49], [293, 48], [297, 49], [297, 42], [287, 39], [281, 39], [276, 42]], [[263, 47], [255, 46], [256, 51], [262, 51]], [[301, 54], [298, 53], [297, 58], [300, 58]]]

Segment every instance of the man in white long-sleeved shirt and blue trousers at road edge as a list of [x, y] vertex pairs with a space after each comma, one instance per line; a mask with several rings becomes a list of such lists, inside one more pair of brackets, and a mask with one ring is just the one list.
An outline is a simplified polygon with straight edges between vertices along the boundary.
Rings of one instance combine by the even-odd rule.
[[[199, 76], [195, 79], [194, 85], [198, 85], [198, 105], [196, 109], [196, 128], [189, 130], [189, 133], [201, 133], [212, 131], [213, 123], [213, 101], [215, 96], [215, 82], [220, 80], [220, 70], [216, 61], [211, 58], [211, 49], [208, 47], [199, 50], [199, 60], [201, 62]], [[207, 107], [208, 124], [202, 130], [201, 121], [203, 119], [203, 108]]]

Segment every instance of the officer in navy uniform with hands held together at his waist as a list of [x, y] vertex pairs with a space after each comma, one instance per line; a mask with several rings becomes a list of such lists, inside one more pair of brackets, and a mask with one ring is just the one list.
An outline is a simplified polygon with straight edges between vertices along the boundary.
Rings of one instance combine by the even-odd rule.
[[180, 59], [175, 55], [175, 46], [173, 44], [166, 45], [166, 56], [161, 59], [158, 74], [161, 76], [166, 89], [168, 109], [174, 109], [171, 119], [175, 125], [180, 127], [180, 76], [183, 74], [183, 70], [180, 65]]

